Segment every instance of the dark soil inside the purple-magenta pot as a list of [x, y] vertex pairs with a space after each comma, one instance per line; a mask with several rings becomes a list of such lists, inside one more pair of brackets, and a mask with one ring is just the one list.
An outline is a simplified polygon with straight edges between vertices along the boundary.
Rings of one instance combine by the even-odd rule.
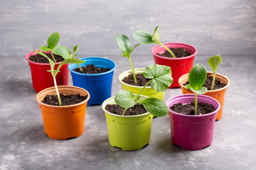
[[[183, 115], [195, 115], [195, 101], [192, 101], [190, 104], [182, 105], [182, 103], [176, 103], [171, 106], [171, 111], [176, 113], [181, 113]], [[198, 108], [196, 115], [206, 115], [215, 111], [213, 106], [208, 103], [198, 102]]]

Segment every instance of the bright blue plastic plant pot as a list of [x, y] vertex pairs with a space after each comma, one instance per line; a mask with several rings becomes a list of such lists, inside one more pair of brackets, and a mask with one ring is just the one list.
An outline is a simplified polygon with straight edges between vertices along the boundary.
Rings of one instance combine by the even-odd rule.
[[81, 60], [85, 61], [85, 63], [80, 64], [81, 67], [86, 67], [87, 64], [92, 63], [96, 67], [110, 68], [110, 71], [99, 74], [82, 74], [73, 71], [73, 69], [78, 68], [77, 64], [68, 65], [74, 86], [86, 89], [90, 93], [91, 98], [87, 105], [101, 105], [103, 101], [111, 97], [112, 79], [116, 64], [112, 60], [102, 57], [86, 57]]

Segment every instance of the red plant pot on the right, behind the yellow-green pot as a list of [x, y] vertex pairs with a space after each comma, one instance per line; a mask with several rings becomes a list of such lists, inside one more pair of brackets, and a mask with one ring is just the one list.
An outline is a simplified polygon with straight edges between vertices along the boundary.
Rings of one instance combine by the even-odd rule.
[[198, 50], [196, 49], [196, 47], [193, 47], [192, 45], [177, 43], [177, 42], [168, 42], [168, 43], [164, 43], [164, 45], [166, 45], [166, 47], [169, 47], [169, 48], [182, 47], [183, 49], [188, 50], [188, 52], [191, 52], [192, 54], [188, 57], [169, 58], [169, 57], [161, 57], [160, 55], [156, 55], [156, 53], [159, 53], [159, 54], [164, 53], [165, 49], [161, 45], [156, 45], [151, 49], [151, 53], [154, 55], [154, 60], [156, 64], [166, 65], [171, 67], [171, 73], [174, 81], [169, 88], [180, 87], [178, 84], [178, 79], [183, 74], [187, 74], [191, 71], [193, 67], [193, 60]]

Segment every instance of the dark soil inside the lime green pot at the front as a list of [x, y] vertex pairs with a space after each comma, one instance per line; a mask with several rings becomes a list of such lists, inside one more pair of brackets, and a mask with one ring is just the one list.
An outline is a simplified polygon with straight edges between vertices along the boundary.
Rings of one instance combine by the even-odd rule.
[[[121, 106], [118, 106], [117, 104], [108, 104], [105, 109], [109, 111], [110, 113], [116, 114], [116, 115], [122, 115], [122, 112], [124, 111], [124, 108]], [[125, 111], [124, 115], [141, 115], [143, 113], [146, 113], [146, 109], [142, 104], [135, 104], [132, 106], [132, 108], [128, 108], [127, 111]]]

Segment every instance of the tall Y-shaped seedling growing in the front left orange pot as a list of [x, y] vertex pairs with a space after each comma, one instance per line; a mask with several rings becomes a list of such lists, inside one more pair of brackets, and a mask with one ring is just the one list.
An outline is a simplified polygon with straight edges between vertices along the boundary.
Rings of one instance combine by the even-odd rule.
[[61, 106], [61, 101], [60, 101], [60, 94], [58, 92], [58, 86], [56, 83], [56, 79], [55, 77], [57, 76], [58, 72], [60, 72], [60, 67], [63, 66], [63, 64], [68, 64], [68, 63], [75, 63], [75, 64], [79, 64], [79, 63], [84, 63], [85, 61], [79, 60], [79, 59], [75, 59], [75, 58], [68, 58], [63, 60], [63, 62], [60, 62], [60, 64], [58, 65], [57, 69], [54, 69], [55, 67], [55, 62], [53, 62], [53, 60], [51, 60], [49, 57], [47, 57], [47, 55], [45, 55], [43, 52], [39, 52], [36, 50], [33, 50], [34, 52], [37, 52], [39, 55], [43, 55], [43, 57], [46, 57], [49, 62], [50, 62], [50, 70], [48, 70], [48, 72], [51, 72], [52, 76], [53, 76], [53, 82], [54, 82], [54, 86], [55, 86], [55, 91], [58, 97], [58, 102], [59, 102], [59, 106]]

